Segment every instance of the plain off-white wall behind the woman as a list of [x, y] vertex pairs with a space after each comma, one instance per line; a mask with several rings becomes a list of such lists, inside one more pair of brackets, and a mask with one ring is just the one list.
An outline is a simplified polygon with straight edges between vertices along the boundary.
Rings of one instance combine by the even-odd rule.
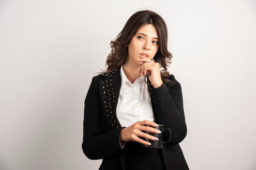
[[168, 25], [190, 169], [256, 169], [255, 0], [1, 0], [1, 170], [99, 168], [81, 148], [83, 102], [139, 9]]

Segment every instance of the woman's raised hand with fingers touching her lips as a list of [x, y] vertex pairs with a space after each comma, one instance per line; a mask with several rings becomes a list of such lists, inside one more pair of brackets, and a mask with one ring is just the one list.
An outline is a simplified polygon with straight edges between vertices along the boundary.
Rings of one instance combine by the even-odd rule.
[[138, 61], [145, 62], [139, 68], [138, 74], [141, 76], [148, 75], [154, 88], [160, 87], [163, 81], [161, 79], [159, 63], [153, 62], [151, 59], [138, 59]]

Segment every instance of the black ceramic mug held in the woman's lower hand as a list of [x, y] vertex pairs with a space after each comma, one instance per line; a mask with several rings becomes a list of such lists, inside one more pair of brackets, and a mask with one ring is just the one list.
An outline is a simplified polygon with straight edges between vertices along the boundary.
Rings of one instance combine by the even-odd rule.
[[[145, 125], [145, 126], [149, 126], [149, 125]], [[153, 127], [153, 126], [149, 126], [149, 127]], [[164, 125], [162, 125], [162, 124], [158, 124], [158, 126], [153, 127], [153, 128], [161, 131], [161, 133], [151, 133], [151, 132], [148, 132], [148, 131], [142, 131], [142, 132], [147, 133], [148, 135], [157, 137], [158, 140], [154, 141], [154, 140], [150, 140], [150, 139], [141, 137], [141, 139], [143, 139], [144, 141], [147, 141], [151, 144], [151, 145], [141, 144], [141, 146], [150, 147], [150, 148], [162, 148], [163, 144], [168, 143], [168, 142], [171, 141], [171, 130], [170, 129], [168, 129], [168, 128], [164, 129]], [[164, 131], [166, 131], [166, 130], [170, 131], [170, 137], [169, 137], [168, 141], [163, 141]]]

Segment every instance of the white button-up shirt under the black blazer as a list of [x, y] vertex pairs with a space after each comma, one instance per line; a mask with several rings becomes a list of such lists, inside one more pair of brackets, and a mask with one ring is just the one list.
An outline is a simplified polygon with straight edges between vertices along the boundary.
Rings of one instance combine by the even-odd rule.
[[117, 119], [122, 127], [128, 127], [135, 122], [150, 120], [155, 122], [148, 86], [144, 76], [132, 84], [124, 74], [123, 65], [120, 69], [121, 89], [117, 102]]

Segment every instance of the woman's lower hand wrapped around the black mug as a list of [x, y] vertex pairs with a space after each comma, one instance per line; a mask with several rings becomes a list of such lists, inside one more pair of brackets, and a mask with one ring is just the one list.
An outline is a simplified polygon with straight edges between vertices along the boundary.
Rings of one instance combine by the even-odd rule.
[[135, 142], [139, 142], [144, 145], [151, 145], [149, 142], [146, 142], [139, 137], [144, 137], [144, 138], [147, 138], [147, 139], [150, 139], [153, 141], [158, 140], [156, 137], [148, 135], [141, 131], [148, 131], [151, 133], [161, 133], [161, 131], [154, 129], [152, 127], [144, 126], [144, 125], [150, 125], [153, 127], [158, 126], [155, 122], [151, 122], [149, 120], [136, 122], [136, 123], [130, 125], [129, 127], [126, 127], [121, 130], [120, 136], [119, 136], [119, 142], [124, 143], [124, 142], [135, 141]]

